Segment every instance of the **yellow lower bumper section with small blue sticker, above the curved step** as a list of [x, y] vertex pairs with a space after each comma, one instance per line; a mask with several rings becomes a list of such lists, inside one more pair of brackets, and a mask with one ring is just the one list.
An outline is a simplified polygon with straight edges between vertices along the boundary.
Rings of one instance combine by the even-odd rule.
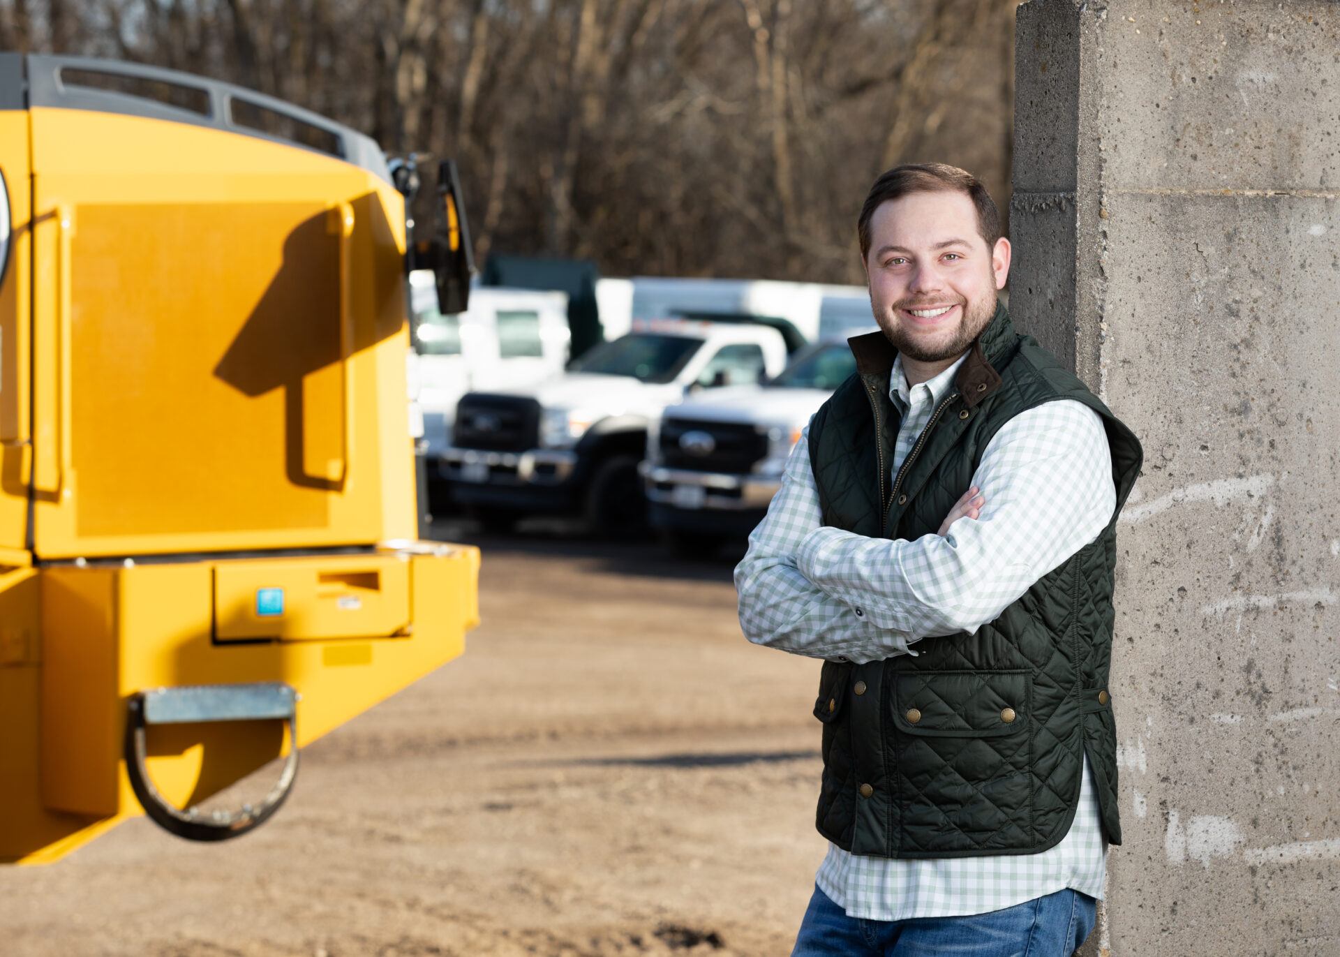
[[[304, 745], [465, 649], [480, 554], [62, 564], [0, 576], [0, 860], [55, 860], [141, 812], [127, 702], [184, 685], [284, 682]], [[194, 804], [287, 753], [279, 721], [147, 729], [165, 800]]]

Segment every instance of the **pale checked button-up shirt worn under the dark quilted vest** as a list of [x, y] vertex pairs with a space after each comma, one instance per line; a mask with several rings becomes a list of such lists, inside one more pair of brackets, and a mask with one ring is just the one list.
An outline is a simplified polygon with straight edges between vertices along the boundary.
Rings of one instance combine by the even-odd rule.
[[[890, 398], [902, 411], [896, 474], [959, 359], [909, 387], [894, 361]], [[915, 541], [868, 539], [821, 524], [808, 428], [787, 462], [768, 515], [736, 568], [745, 637], [813, 658], [878, 661], [917, 654], [918, 641], [976, 631], [1029, 586], [1092, 541], [1116, 508], [1101, 418], [1073, 399], [1014, 416], [973, 476], [986, 501], [977, 519]], [[1107, 842], [1084, 759], [1069, 832], [1040, 854], [898, 860], [829, 844], [815, 882], [850, 917], [898, 921], [981, 914], [1072, 887], [1101, 899]]]

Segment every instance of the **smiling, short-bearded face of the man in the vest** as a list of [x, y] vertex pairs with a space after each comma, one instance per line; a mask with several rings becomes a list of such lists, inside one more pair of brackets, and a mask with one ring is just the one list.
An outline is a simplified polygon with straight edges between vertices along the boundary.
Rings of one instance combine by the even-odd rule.
[[1009, 253], [1004, 237], [988, 249], [966, 193], [909, 193], [882, 204], [864, 261], [875, 322], [909, 358], [958, 358], [996, 314]]

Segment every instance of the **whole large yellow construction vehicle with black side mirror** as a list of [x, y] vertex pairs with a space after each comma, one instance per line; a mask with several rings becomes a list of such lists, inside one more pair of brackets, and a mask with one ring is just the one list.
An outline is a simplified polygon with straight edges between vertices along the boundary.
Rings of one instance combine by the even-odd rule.
[[448, 173], [411, 244], [417, 174], [354, 130], [0, 54], [0, 860], [141, 810], [245, 834], [299, 748], [464, 650], [480, 556], [418, 536], [406, 393], [406, 267], [468, 288]]

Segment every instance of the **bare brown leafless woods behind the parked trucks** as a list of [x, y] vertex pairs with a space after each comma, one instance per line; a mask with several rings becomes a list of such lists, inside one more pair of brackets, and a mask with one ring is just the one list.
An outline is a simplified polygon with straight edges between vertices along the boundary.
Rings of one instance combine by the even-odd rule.
[[0, 0], [0, 43], [206, 74], [454, 157], [478, 252], [860, 281], [896, 162], [1008, 208], [1017, 0]]

